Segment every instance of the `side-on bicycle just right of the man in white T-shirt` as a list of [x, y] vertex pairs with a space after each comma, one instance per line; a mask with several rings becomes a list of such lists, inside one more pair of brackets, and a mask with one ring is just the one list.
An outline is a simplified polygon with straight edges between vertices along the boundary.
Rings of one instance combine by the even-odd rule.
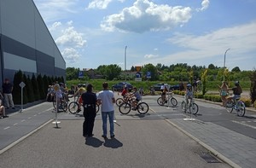
[[134, 110], [140, 114], [145, 114], [148, 113], [148, 104], [146, 102], [138, 102], [137, 106], [135, 108], [131, 108], [131, 102], [123, 102], [122, 104], [120, 104], [119, 106], [119, 112], [122, 114], [127, 114], [130, 113], [131, 110]]

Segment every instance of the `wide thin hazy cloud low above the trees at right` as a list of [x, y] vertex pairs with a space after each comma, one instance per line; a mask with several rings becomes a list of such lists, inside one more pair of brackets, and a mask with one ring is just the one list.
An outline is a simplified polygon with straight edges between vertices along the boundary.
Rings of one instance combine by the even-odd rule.
[[[223, 66], [224, 52], [230, 49], [227, 55], [227, 67], [241, 67], [256, 61], [256, 21], [230, 28], [220, 29], [205, 35], [177, 34], [170, 38], [171, 46], [183, 48], [182, 52], [166, 55], [161, 58], [153, 58], [144, 61], [143, 64], [159, 62], [172, 65], [178, 62], [187, 62], [190, 65], [201, 65], [200, 62], [213, 63]], [[214, 62], [212, 62], [214, 61]], [[205, 64], [207, 65], [207, 64]], [[245, 68], [247, 66], [244, 66]], [[246, 69], [253, 69], [247, 67]]]

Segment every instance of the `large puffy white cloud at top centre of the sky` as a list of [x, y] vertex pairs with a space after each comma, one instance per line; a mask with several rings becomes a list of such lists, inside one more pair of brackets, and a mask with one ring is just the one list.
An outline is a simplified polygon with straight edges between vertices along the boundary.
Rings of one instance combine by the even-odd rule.
[[108, 15], [102, 21], [105, 31], [115, 29], [125, 32], [148, 32], [170, 30], [174, 26], [183, 25], [191, 18], [189, 7], [157, 5], [148, 0], [137, 0], [130, 8], [119, 14]]

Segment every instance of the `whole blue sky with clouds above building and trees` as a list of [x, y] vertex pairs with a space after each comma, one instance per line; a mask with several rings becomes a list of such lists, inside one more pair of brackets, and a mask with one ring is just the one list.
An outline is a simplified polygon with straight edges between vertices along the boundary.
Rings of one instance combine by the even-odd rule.
[[256, 0], [34, 0], [67, 67], [256, 68]]

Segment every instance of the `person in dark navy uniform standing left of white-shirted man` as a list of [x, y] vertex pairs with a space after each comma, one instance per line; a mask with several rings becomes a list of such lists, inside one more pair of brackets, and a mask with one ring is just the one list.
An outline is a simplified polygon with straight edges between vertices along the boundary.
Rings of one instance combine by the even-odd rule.
[[84, 107], [84, 125], [83, 136], [90, 137], [92, 134], [94, 121], [96, 118], [96, 94], [92, 92], [92, 85], [88, 84], [86, 92], [82, 94], [83, 107]]

